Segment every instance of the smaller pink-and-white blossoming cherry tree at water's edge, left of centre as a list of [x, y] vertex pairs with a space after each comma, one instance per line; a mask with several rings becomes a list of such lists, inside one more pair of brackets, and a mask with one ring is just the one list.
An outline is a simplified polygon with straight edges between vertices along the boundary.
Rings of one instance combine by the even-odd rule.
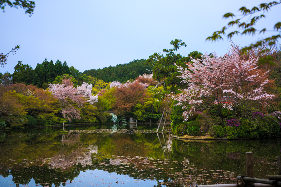
[[[65, 119], [71, 122], [71, 119], [80, 118], [80, 110], [73, 105], [77, 105], [78, 108], [81, 108], [85, 102], [91, 104], [97, 102], [97, 96], [92, 96], [90, 93], [92, 89], [91, 84], [83, 83], [76, 89], [73, 87], [69, 78], [64, 79], [62, 84], [49, 84], [49, 88], [52, 95], [60, 101], [63, 125], [66, 125]], [[84, 98], [86, 98], [86, 101]]]

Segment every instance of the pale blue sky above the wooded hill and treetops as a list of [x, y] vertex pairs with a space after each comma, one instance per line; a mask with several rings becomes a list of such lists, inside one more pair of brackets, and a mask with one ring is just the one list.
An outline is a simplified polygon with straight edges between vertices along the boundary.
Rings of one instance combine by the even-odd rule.
[[[237, 13], [267, 0], [198, 0], [198, 1], [95, 1], [95, 0], [34, 0], [34, 14], [28, 17], [22, 8], [5, 8], [0, 12], [0, 52], [6, 54], [20, 45], [17, 54], [8, 57], [0, 72], [13, 73], [19, 60], [34, 69], [37, 63], [57, 59], [83, 72], [134, 59], [147, 59], [154, 52], [170, 49], [170, 41], [181, 39], [187, 44], [179, 50], [187, 56], [191, 51], [226, 53], [227, 38], [206, 42], [214, 31], [230, 20], [227, 12]], [[273, 29], [280, 21], [280, 5], [268, 12], [257, 29]], [[265, 36], [275, 33], [268, 33]], [[264, 35], [235, 36], [240, 46]]]

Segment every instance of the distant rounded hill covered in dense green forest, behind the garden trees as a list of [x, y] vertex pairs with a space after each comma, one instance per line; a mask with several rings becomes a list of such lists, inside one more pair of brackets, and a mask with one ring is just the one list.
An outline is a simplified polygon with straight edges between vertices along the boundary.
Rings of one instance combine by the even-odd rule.
[[[109, 66], [103, 69], [86, 70], [83, 74], [96, 77], [104, 82], [112, 82], [118, 80], [124, 82], [130, 79], [135, 79], [142, 74], [149, 74], [148, 70], [152, 70], [150, 65], [145, 65], [146, 60], [133, 60], [128, 64], [119, 64], [116, 66]], [[146, 70], [147, 69], [147, 70]]]

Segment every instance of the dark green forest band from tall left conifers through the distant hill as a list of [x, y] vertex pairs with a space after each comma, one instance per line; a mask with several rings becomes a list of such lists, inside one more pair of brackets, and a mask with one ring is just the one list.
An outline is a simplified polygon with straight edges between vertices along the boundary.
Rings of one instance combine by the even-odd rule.
[[[32, 69], [30, 65], [22, 64], [19, 61], [14, 67], [13, 73], [6, 72], [0, 73], [1, 83], [8, 85], [12, 83], [24, 83], [26, 85], [33, 84], [38, 88], [46, 89], [48, 84], [55, 81], [57, 76], [68, 74], [75, 78], [77, 81], [75, 85], [81, 85], [83, 82], [89, 82], [89, 77], [92, 76], [96, 79], [109, 83], [115, 80], [120, 82], [126, 82], [130, 79], [136, 79], [137, 76], [150, 73], [148, 70], [152, 70], [150, 65], [145, 65], [146, 60], [133, 60], [128, 64], [119, 64], [116, 66], [109, 66], [103, 69], [91, 69], [81, 73], [75, 67], [68, 67], [67, 62], [62, 63], [57, 60], [54, 63], [52, 60], [45, 59], [41, 64], [37, 64], [35, 69]], [[146, 70], [147, 69], [147, 70]]]

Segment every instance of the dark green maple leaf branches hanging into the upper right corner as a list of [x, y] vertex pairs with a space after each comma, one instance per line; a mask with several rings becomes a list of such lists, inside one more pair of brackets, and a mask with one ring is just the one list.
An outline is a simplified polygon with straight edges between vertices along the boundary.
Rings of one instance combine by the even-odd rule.
[[[254, 6], [251, 9], [248, 9], [246, 7], [241, 7], [241, 8], [239, 8], [239, 11], [242, 13], [242, 15], [239, 15], [241, 17], [239, 17], [237, 19], [236, 19], [236, 17], [238, 17], [238, 15], [234, 15], [233, 13], [228, 12], [228, 13], [224, 14], [223, 18], [225, 18], [225, 19], [232, 18], [232, 21], [230, 21], [227, 24], [227, 26], [224, 26], [220, 31], [215, 31], [213, 33], [213, 35], [207, 37], [206, 40], [218, 41], [218, 40], [223, 39], [223, 36], [225, 36], [225, 35], [227, 35], [227, 38], [229, 40], [231, 40], [231, 38], [234, 35], [243, 36], [243, 35], [255, 35], [257, 32], [259, 32], [259, 34], [265, 33], [266, 31], [268, 31], [267, 28], [263, 28], [263, 29], [259, 30], [259, 29], [256, 29], [254, 26], [260, 19], [265, 18], [265, 15], [264, 15], [265, 12], [268, 12], [271, 7], [280, 5], [280, 4], [281, 4], [281, 1], [279, 1], [279, 2], [273, 1], [273, 2], [269, 2], [269, 3], [261, 3], [260, 5]], [[260, 12], [262, 12], [262, 13], [259, 14]], [[259, 15], [253, 16], [254, 14], [255, 15], [259, 14]], [[246, 22], [242, 21], [242, 19], [244, 17], [248, 17]], [[226, 30], [233, 26], [237, 26], [238, 30], [232, 31], [232, 32], [229, 32], [228, 34], [226, 34]], [[281, 22], [277, 22], [273, 28], [274, 28], [274, 31], [277, 31], [277, 32], [279, 30], [281, 30]], [[241, 30], [241, 31], [239, 31], [239, 30]], [[276, 41], [279, 38], [281, 38], [280, 31], [279, 31], [279, 34], [277, 34], [277, 35], [266, 37], [262, 40], [255, 42], [254, 44], [250, 44], [249, 46], [242, 48], [242, 52], [247, 54], [247, 52], [249, 50], [256, 48], [256, 47], [260, 47], [264, 44], [264, 42], [266, 42], [266, 43], [268, 43], [269, 47], [260, 51], [260, 53], [263, 54], [264, 52], [269, 51], [270, 47], [275, 45]], [[272, 65], [272, 64], [274, 64], [273, 61], [274, 61], [274, 58], [272, 56], [265, 56], [265, 57], [260, 58], [259, 64], [269, 63]]]

